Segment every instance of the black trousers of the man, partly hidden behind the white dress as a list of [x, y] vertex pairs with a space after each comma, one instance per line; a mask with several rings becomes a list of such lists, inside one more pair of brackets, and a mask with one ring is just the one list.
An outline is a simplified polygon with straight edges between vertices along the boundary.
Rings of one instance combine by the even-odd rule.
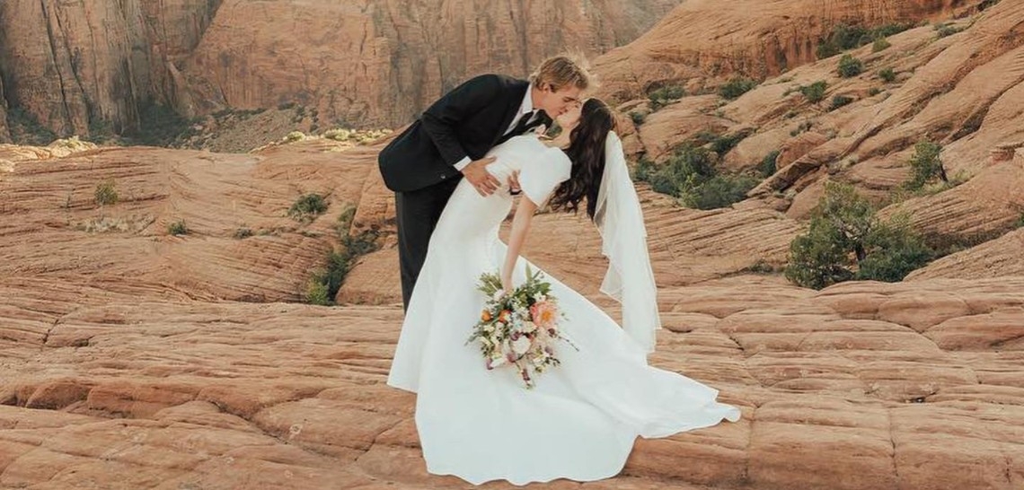
[[394, 193], [398, 263], [401, 268], [401, 306], [404, 310], [409, 310], [409, 299], [413, 297], [416, 279], [427, 259], [430, 235], [460, 180], [462, 176], [457, 175], [429, 187]]

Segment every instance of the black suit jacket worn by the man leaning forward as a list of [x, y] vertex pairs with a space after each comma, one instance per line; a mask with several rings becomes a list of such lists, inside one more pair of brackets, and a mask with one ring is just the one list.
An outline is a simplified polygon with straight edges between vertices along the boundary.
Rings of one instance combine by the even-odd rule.
[[550, 126], [541, 112], [526, 128], [503, 136], [528, 88], [525, 80], [481, 75], [446, 93], [381, 150], [377, 160], [385, 185], [410, 192], [462, 177], [453, 166], [463, 158], [479, 160], [512, 136]]

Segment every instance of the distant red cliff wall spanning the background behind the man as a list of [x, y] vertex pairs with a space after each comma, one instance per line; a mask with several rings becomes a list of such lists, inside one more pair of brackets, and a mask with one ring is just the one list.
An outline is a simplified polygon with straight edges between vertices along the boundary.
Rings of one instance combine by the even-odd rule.
[[399, 126], [466, 78], [632, 41], [679, 0], [10, 0], [6, 99], [57, 135], [298, 103], [323, 126]]

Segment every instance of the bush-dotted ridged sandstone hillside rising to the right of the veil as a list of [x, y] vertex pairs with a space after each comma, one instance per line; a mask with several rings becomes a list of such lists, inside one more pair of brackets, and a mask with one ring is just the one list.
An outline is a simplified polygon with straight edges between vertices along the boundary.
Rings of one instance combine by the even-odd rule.
[[[949, 35], [919, 27], [890, 36], [885, 49], [850, 51], [863, 63], [859, 75], [841, 77], [835, 56], [770, 78], [732, 101], [684, 97], [646, 117], [638, 145], [656, 161], [703, 131], [749, 134], [724, 154], [723, 167], [752, 172], [779, 151], [777, 170], [737, 208], [803, 220], [826, 181], [846, 182], [885, 206], [882, 216], [908, 215], [938, 248], [970, 248], [1020, 226], [1024, 210], [1024, 154], [1017, 149], [1024, 145], [1022, 26], [1024, 4], [999, 2], [951, 24]], [[888, 80], [880, 75], [887, 71]], [[812, 102], [801, 87], [817, 82], [826, 89]], [[837, 97], [849, 103], [837, 105]], [[941, 145], [946, 174], [964, 183], [901, 190], [920, 141]], [[990, 269], [980, 275], [1005, 274]]]

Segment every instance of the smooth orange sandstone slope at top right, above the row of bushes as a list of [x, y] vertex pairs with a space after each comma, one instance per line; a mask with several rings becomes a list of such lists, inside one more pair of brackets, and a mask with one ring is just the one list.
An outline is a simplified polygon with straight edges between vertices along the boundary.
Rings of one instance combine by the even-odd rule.
[[838, 24], [916, 25], [971, 11], [972, 0], [690, 0], [635, 42], [595, 60], [601, 93], [628, 100], [664, 83], [743, 74], [756, 79], [814, 61], [818, 40]]

